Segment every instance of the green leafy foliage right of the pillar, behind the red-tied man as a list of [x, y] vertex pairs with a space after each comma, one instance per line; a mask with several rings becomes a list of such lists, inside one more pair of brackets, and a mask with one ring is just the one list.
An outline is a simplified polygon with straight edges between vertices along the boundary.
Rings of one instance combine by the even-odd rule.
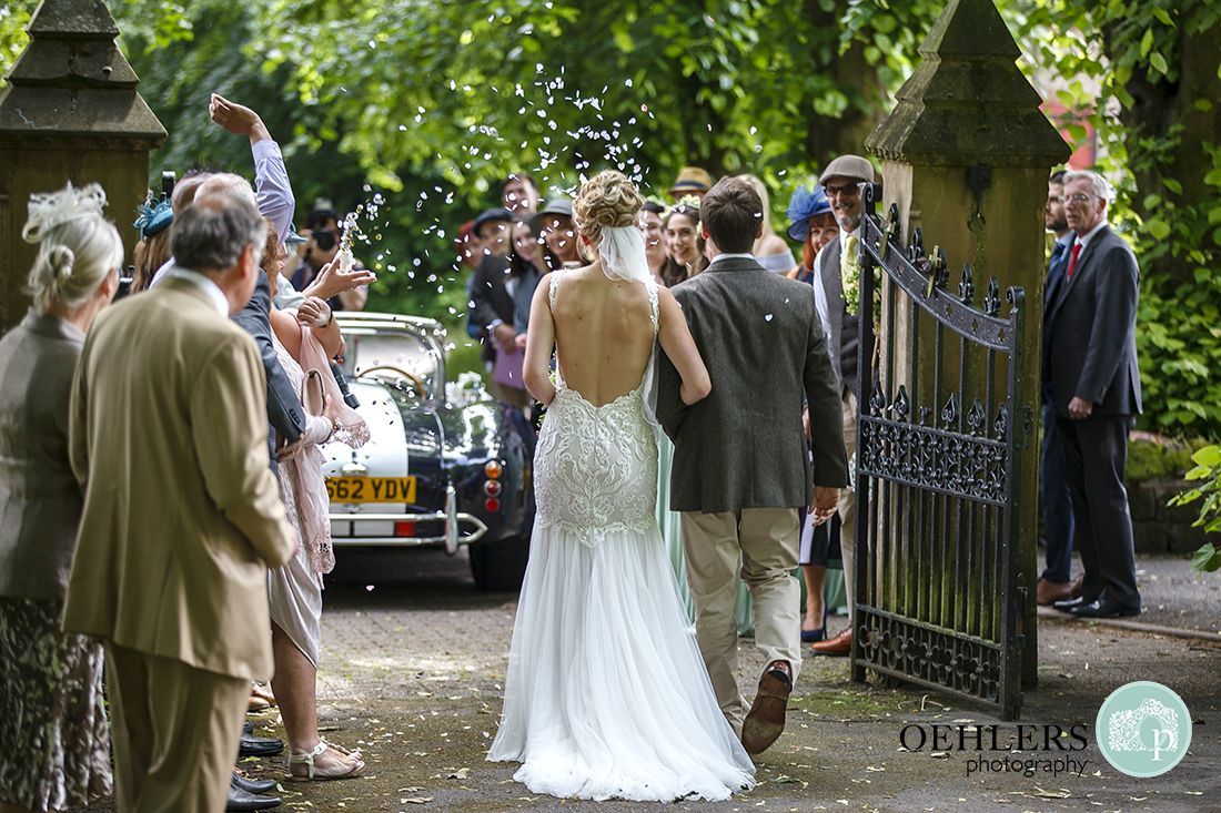
[[1137, 352], [1160, 432], [1221, 437], [1221, 6], [1208, 0], [1009, 4], [1034, 66], [1072, 78], [1057, 99], [1078, 144], [1096, 131], [1117, 178], [1110, 220], [1137, 249]]

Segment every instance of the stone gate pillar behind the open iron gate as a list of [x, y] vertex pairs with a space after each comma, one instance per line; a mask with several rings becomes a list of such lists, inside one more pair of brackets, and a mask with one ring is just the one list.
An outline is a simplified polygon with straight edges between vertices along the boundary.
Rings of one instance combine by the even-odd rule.
[[[894, 112], [866, 139], [882, 160], [883, 211], [897, 204], [904, 239], [945, 250], [950, 287], [969, 264], [977, 291], [995, 276], [1001, 292], [1026, 291], [1023, 402], [1039, 415], [1044, 225], [1048, 176], [1071, 150], [1039, 110], [1042, 99], [1015, 65], [1022, 56], [991, 0], [950, 0], [919, 48], [922, 62], [899, 90]], [[982, 294], [980, 294], [982, 295]], [[904, 310], [904, 309], [900, 309]], [[1007, 308], [1002, 309], [1002, 316]], [[906, 314], [889, 326], [902, 336]], [[1038, 435], [1022, 457], [1022, 579], [1028, 588], [1022, 684], [1038, 680], [1034, 586]]]

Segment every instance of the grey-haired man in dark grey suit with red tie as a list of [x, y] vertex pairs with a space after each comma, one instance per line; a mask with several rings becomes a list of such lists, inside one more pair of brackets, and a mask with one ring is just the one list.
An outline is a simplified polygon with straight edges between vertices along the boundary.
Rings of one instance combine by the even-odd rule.
[[1048, 297], [1043, 364], [1051, 369], [1085, 581], [1079, 598], [1055, 607], [1078, 618], [1139, 615], [1123, 490], [1128, 432], [1140, 411], [1139, 270], [1132, 248], [1106, 225], [1111, 184], [1095, 172], [1068, 172], [1063, 181], [1076, 238], [1065, 276]]

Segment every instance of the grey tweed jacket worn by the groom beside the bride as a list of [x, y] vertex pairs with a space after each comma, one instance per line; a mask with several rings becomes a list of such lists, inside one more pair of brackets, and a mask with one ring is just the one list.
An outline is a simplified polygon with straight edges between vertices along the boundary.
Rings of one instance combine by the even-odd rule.
[[657, 417], [674, 441], [670, 509], [796, 508], [813, 503], [813, 483], [847, 486], [840, 385], [813, 288], [755, 260], [726, 258], [675, 286], [674, 298], [712, 393], [686, 406], [678, 371], [659, 354]]

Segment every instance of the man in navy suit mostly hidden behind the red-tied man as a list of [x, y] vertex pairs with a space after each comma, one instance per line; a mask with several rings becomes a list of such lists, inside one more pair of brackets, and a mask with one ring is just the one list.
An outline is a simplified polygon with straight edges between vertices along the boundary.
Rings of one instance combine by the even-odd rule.
[[[1053, 172], [1048, 179], [1048, 204], [1043, 222], [1056, 236], [1048, 265], [1048, 282], [1043, 289], [1044, 317], [1051, 313], [1051, 294], [1063, 283], [1068, 255], [1077, 234], [1068, 228], [1065, 216], [1065, 172]], [[1051, 326], [1044, 321], [1043, 348], [1051, 341]], [[1051, 386], [1051, 367], [1043, 366], [1043, 457], [1039, 463], [1039, 502], [1043, 503], [1043, 524], [1048, 529], [1048, 566], [1039, 576], [1035, 599], [1040, 605], [1081, 596], [1082, 580], [1072, 581], [1072, 496], [1065, 477], [1065, 455], [1056, 428], [1056, 398]]]

